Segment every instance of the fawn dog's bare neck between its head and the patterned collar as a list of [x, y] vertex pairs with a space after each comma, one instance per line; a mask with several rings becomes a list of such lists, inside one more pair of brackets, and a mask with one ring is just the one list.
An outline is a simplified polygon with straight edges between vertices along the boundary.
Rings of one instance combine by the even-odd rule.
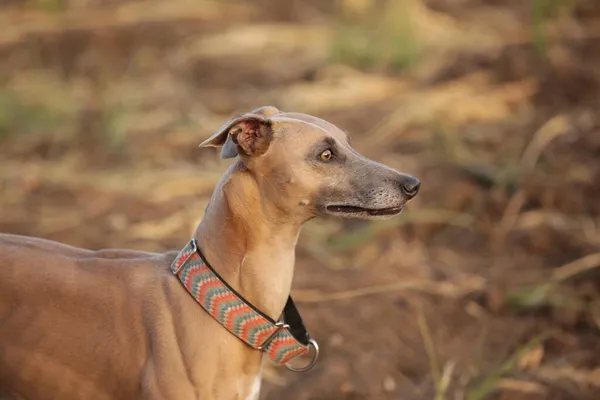
[[215, 188], [195, 238], [221, 277], [277, 320], [290, 294], [300, 229], [285, 221], [238, 161]]

